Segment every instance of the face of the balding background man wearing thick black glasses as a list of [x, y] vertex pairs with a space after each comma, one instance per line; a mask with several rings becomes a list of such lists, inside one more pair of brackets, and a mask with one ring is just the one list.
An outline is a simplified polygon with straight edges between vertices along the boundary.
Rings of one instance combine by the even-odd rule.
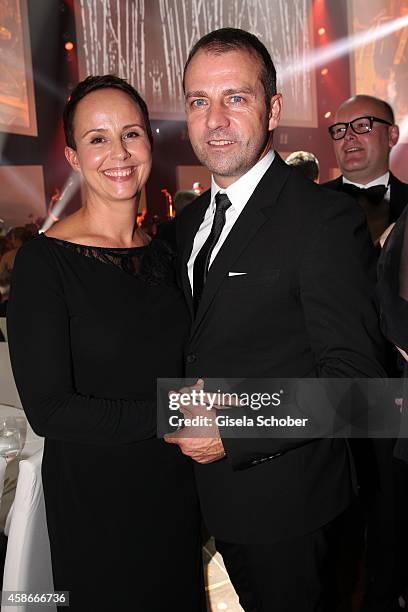
[[[381, 104], [369, 100], [345, 102], [337, 111], [336, 123], [358, 117], [378, 117], [389, 121]], [[341, 140], [334, 140], [334, 151], [342, 174], [350, 181], [365, 185], [389, 169], [389, 154], [398, 141], [397, 126], [374, 121], [366, 134], [355, 134], [349, 126]]]

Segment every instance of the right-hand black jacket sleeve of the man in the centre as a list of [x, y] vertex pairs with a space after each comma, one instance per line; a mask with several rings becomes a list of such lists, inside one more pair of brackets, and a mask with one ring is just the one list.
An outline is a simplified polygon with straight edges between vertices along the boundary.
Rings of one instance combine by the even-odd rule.
[[[300, 302], [316, 378], [386, 376], [374, 300], [375, 270], [376, 254], [363, 214], [348, 197], [330, 194], [299, 269]], [[227, 458], [238, 470], [312, 441], [310, 437], [223, 438]]]

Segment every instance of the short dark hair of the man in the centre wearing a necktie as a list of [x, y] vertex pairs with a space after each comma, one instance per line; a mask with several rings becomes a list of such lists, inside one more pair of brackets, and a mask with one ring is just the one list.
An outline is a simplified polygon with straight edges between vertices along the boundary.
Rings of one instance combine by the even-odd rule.
[[187, 68], [193, 57], [200, 50], [211, 53], [227, 53], [228, 51], [247, 51], [256, 57], [261, 65], [261, 83], [265, 91], [266, 105], [269, 106], [272, 96], [276, 94], [276, 70], [272, 58], [265, 45], [250, 32], [238, 28], [221, 28], [206, 34], [191, 49], [183, 73], [183, 91], [185, 93], [185, 78]]

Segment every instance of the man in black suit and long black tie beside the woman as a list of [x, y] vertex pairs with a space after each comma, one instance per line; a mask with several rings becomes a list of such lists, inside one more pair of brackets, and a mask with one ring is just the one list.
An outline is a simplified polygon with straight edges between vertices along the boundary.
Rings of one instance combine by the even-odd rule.
[[[213, 175], [177, 227], [194, 317], [186, 375], [383, 376], [363, 215], [273, 150], [281, 95], [264, 45], [232, 28], [204, 36], [184, 89], [191, 143]], [[332, 523], [352, 499], [345, 441], [188, 427], [167, 440], [195, 461], [205, 523], [246, 612], [332, 611]]]

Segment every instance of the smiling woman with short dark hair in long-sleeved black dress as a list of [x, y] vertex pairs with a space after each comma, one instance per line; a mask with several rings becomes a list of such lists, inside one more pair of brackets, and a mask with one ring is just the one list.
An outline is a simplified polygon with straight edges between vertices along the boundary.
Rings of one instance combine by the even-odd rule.
[[182, 376], [190, 321], [171, 254], [135, 229], [147, 108], [126, 81], [88, 77], [64, 128], [85, 203], [20, 250], [8, 312], [16, 383], [45, 437], [54, 587], [75, 611], [201, 611], [192, 467], [156, 438], [156, 378]]

